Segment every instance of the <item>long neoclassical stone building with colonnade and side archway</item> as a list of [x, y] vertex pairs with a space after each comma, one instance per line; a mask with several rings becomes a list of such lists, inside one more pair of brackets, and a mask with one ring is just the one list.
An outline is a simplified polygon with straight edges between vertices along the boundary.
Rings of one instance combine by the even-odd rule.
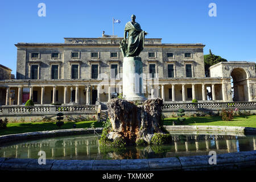
[[[64, 40], [15, 44], [16, 80], [0, 80], [0, 88], [6, 90], [6, 105], [22, 105], [29, 98], [42, 105], [106, 104], [122, 93], [122, 38]], [[218, 63], [210, 67], [210, 77], [205, 77], [203, 48], [201, 43], [166, 44], [162, 39], [145, 39], [140, 55], [147, 75], [144, 96], [162, 97], [164, 102], [255, 101], [255, 63]], [[10, 93], [13, 103], [8, 99]]]

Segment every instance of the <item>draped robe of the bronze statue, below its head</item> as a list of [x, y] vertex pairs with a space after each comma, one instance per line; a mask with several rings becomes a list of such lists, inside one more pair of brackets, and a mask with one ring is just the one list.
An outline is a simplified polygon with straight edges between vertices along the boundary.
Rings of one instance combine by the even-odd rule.
[[127, 22], [125, 31], [128, 32], [127, 44], [122, 42], [120, 47], [123, 55], [126, 57], [139, 56], [144, 47], [145, 31], [141, 30], [141, 26], [137, 22], [134, 24]]

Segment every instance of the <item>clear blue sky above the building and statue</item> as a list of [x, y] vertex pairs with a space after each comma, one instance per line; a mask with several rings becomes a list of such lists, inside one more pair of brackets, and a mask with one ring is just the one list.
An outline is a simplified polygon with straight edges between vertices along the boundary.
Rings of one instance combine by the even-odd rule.
[[[46, 4], [46, 17], [38, 16], [38, 4]], [[131, 4], [133, 3], [133, 4]], [[216, 3], [217, 17], [210, 17], [209, 3]], [[102, 31], [123, 36], [131, 14], [147, 38], [162, 43], [203, 43], [225, 59], [256, 61], [256, 1], [55, 1], [31, 0], [0, 2], [0, 64], [16, 75], [18, 42], [63, 43], [64, 37], [98, 38]]]

